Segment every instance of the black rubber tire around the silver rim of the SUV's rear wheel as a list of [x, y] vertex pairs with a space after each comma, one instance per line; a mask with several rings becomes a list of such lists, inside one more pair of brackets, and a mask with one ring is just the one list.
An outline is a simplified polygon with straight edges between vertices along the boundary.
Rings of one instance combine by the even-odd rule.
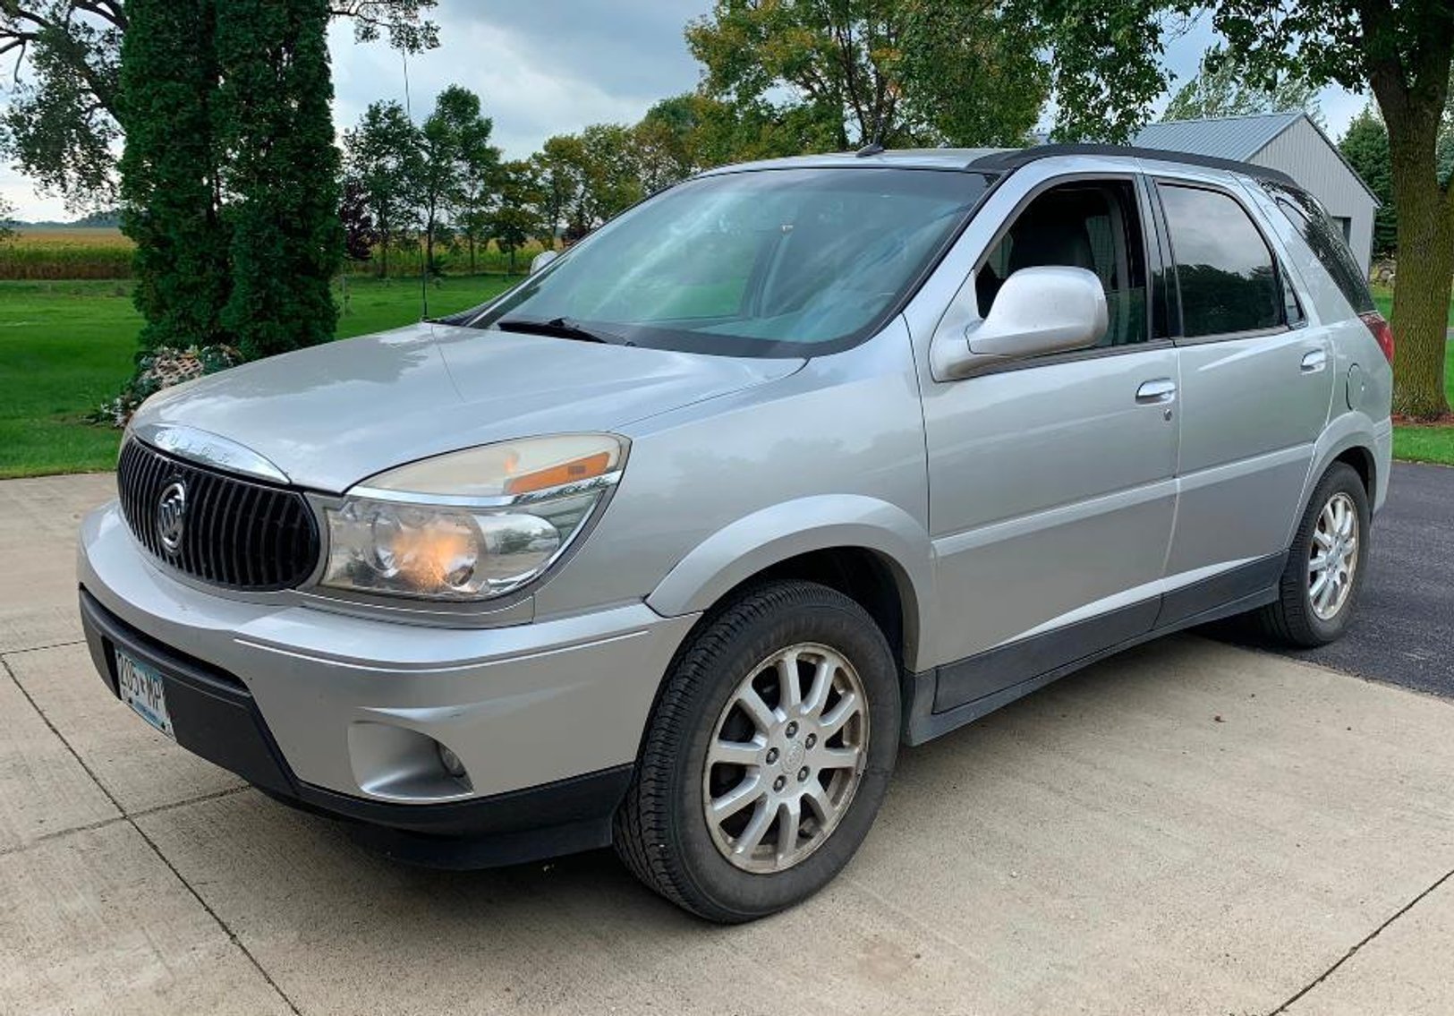
[[[1348, 590], [1329, 613], [1328, 604], [1317, 604], [1312, 595], [1314, 555], [1323, 553], [1320, 540], [1328, 539], [1323, 520], [1325, 509], [1335, 502], [1351, 507], [1354, 518], [1355, 546], [1348, 552]], [[1322, 528], [1320, 528], [1322, 523]], [[1346, 463], [1333, 463], [1313, 489], [1313, 496], [1303, 509], [1293, 547], [1288, 552], [1287, 568], [1278, 584], [1278, 598], [1253, 614], [1262, 633], [1288, 646], [1312, 649], [1328, 645], [1342, 636], [1352, 622], [1358, 606], [1368, 563], [1370, 536], [1368, 492], [1362, 477]], [[1346, 547], [1346, 540], [1335, 543]], [[1336, 594], [1335, 594], [1336, 595]]]

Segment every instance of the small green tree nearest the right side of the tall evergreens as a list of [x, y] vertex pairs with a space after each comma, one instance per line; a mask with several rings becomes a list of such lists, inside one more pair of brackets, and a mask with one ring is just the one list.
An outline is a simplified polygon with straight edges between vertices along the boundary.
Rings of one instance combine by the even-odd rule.
[[343, 132], [348, 182], [361, 192], [379, 236], [379, 277], [388, 278], [388, 252], [417, 227], [423, 156], [419, 130], [397, 102], [374, 102], [358, 127]]

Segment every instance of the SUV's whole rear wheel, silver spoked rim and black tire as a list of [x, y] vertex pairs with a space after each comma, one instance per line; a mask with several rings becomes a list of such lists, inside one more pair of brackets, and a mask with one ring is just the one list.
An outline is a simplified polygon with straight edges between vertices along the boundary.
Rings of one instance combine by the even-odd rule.
[[1262, 630], [1293, 646], [1320, 646], [1352, 622], [1368, 556], [1368, 493], [1346, 463], [1323, 473], [1303, 512]]

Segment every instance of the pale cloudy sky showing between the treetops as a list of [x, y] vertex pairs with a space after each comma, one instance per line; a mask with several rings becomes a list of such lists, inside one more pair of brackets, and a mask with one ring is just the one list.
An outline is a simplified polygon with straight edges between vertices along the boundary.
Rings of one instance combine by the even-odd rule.
[[[433, 19], [442, 45], [409, 60], [414, 118], [427, 114], [446, 84], [464, 84], [483, 99], [496, 144], [510, 159], [528, 156], [553, 134], [634, 122], [657, 99], [696, 86], [699, 67], [682, 28], [710, 7], [711, 0], [441, 0]], [[1168, 63], [1178, 77], [1195, 71], [1211, 41], [1211, 31], [1198, 25], [1172, 44]], [[375, 99], [404, 99], [398, 52], [384, 42], [355, 45], [342, 23], [330, 29], [330, 44], [339, 130]], [[1322, 105], [1336, 138], [1364, 99], [1329, 89]], [[0, 194], [19, 208], [19, 218], [70, 218], [58, 199], [36, 195], [9, 167], [0, 167]]]

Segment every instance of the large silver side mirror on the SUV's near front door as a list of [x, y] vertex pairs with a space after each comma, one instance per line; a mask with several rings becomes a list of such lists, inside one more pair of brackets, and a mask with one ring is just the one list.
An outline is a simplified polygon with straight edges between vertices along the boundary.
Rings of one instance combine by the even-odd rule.
[[[1105, 335], [1109, 314], [1105, 290], [1085, 268], [1022, 268], [1000, 287], [984, 320], [973, 322], [936, 351], [933, 374], [968, 377], [1008, 360], [1041, 357], [1093, 345]], [[938, 345], [938, 344], [936, 344]]]

